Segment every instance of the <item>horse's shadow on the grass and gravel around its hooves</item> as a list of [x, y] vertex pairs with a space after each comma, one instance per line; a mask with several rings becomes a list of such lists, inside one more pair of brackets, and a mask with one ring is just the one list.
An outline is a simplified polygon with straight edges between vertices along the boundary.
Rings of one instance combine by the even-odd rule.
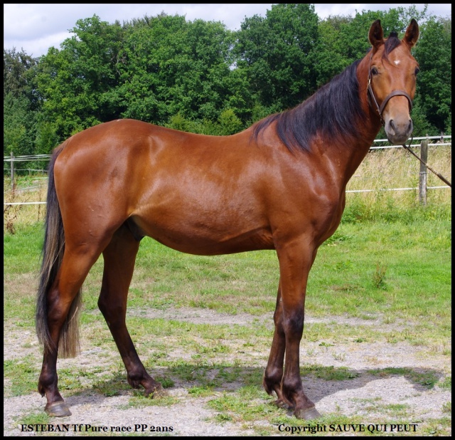
[[[206, 365], [201, 362], [183, 362], [178, 366], [149, 368], [149, 373], [170, 392], [176, 389], [205, 389], [213, 392], [239, 392], [243, 387], [262, 389], [262, 367], [226, 367], [223, 364]], [[444, 377], [441, 371], [431, 368], [378, 368], [352, 370], [345, 367], [302, 367], [301, 377], [306, 395], [315, 404], [325, 397], [341, 391], [360, 389], [369, 382], [385, 377], [404, 377], [415, 392], [425, 392]], [[265, 392], [264, 392], [265, 393]], [[143, 395], [127, 383], [124, 372], [116, 372], [109, 379], [92, 384], [90, 400], [115, 395], [131, 397]], [[68, 396], [68, 404], [83, 404], [87, 393], [82, 391]], [[371, 396], [374, 398], [374, 395]]]

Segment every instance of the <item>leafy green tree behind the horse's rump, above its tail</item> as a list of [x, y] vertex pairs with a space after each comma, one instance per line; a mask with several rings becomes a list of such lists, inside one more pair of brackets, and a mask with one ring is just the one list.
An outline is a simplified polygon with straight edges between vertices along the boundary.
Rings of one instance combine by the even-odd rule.
[[122, 26], [99, 17], [77, 20], [75, 36], [41, 57], [37, 84], [45, 117], [60, 139], [120, 117], [119, 48]]

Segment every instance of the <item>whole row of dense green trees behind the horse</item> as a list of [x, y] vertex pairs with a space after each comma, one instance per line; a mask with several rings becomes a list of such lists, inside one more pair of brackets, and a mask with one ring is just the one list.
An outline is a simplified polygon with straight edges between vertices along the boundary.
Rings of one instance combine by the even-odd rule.
[[4, 155], [47, 154], [92, 125], [131, 117], [208, 135], [230, 135], [298, 105], [370, 44], [380, 19], [420, 38], [414, 136], [451, 134], [451, 18], [414, 6], [321, 20], [312, 4], [275, 4], [238, 31], [219, 21], [161, 13], [107, 23], [80, 19], [73, 36], [33, 58], [4, 49]]

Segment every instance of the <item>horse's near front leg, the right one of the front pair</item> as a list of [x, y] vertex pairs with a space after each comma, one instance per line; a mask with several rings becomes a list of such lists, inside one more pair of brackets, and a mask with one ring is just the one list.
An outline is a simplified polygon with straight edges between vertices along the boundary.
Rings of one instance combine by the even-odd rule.
[[286, 348], [282, 399], [294, 408], [294, 415], [297, 418], [315, 419], [321, 414], [304, 393], [300, 377], [299, 349], [304, 332], [306, 283], [316, 257], [316, 248], [307, 245], [303, 240], [294, 241], [277, 249], [277, 254], [282, 300], [281, 326]]

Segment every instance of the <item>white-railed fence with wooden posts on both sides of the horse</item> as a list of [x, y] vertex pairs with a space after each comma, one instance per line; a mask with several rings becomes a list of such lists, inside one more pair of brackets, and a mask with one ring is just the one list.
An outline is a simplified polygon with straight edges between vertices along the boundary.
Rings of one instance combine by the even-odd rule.
[[[451, 135], [441, 135], [441, 136], [426, 136], [426, 137], [413, 137], [412, 142], [414, 141], [421, 141], [418, 144], [412, 144], [410, 147], [419, 148], [421, 151], [424, 147], [422, 145], [427, 144], [428, 147], [442, 147], [444, 145], [451, 145]], [[429, 143], [429, 140], [437, 140], [437, 142]], [[389, 142], [387, 139], [377, 139], [373, 142], [373, 145], [370, 147], [370, 150], [385, 150], [388, 148], [402, 148], [402, 145], [375, 145], [378, 142]], [[35, 154], [35, 155], [27, 155], [27, 156], [18, 156], [15, 157], [13, 152], [11, 152], [11, 157], [5, 156], [4, 162], [10, 162], [11, 167], [11, 188], [14, 190], [15, 179], [14, 174], [16, 171], [14, 168], [14, 162], [33, 162], [33, 161], [41, 161], [41, 160], [49, 160], [50, 154]], [[4, 172], [9, 170], [8, 168], [4, 168]], [[38, 169], [23, 169], [21, 171], [44, 171], [45, 170], [38, 170]], [[423, 171], [426, 174], [426, 169]], [[411, 187], [411, 188], [385, 188], [385, 189], [350, 189], [346, 192], [375, 192], [375, 191], [410, 191], [410, 190], [419, 190], [419, 198], [422, 203], [426, 203], [426, 193], [427, 189], [446, 189], [450, 188], [447, 185], [443, 185], [440, 187], [427, 187], [427, 179], [422, 178], [422, 169], [419, 173], [419, 187]], [[28, 201], [28, 202], [14, 202], [14, 203], [4, 203], [4, 205], [31, 205], [31, 204], [46, 204], [45, 201]]]

